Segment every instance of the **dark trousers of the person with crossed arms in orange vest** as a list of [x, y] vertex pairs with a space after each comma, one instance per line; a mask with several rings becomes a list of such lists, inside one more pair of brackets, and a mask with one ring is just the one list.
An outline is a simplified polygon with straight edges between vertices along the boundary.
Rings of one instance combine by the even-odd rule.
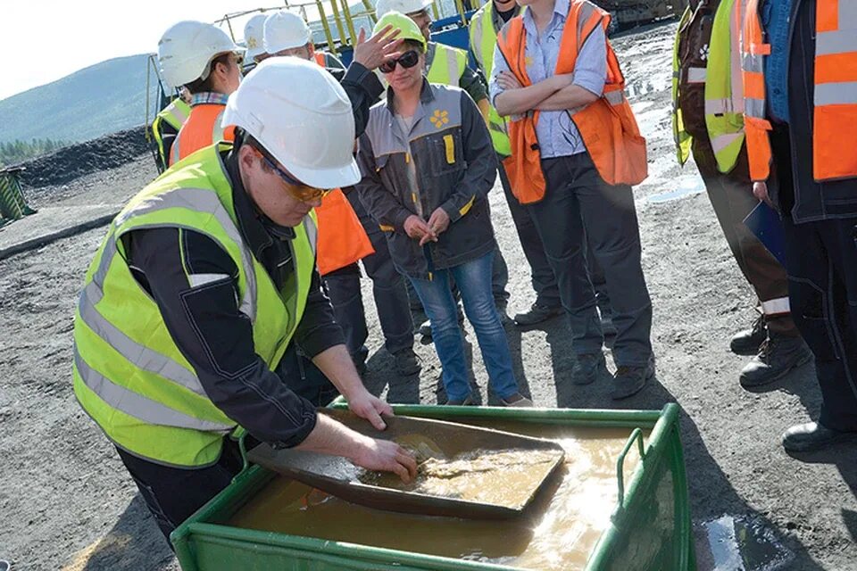
[[[640, 263], [640, 233], [630, 186], [607, 185], [587, 153], [544, 159], [545, 198], [528, 204], [569, 315], [577, 354], [600, 352], [603, 334], [584, 249], [603, 269], [617, 335], [619, 367], [652, 356], [652, 302]], [[586, 244], [586, 246], [585, 246]]]

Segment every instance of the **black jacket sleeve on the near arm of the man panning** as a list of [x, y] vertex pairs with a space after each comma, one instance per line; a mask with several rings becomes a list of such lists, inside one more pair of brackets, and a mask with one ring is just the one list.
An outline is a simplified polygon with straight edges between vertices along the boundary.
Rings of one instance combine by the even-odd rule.
[[208, 236], [179, 228], [134, 230], [125, 244], [132, 272], [208, 398], [258, 440], [302, 443], [315, 426], [315, 408], [256, 354], [229, 254]]

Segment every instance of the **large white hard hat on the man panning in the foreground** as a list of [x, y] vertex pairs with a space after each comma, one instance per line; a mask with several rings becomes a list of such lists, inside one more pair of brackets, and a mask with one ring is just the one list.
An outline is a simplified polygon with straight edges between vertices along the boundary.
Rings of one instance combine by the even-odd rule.
[[272, 57], [229, 95], [223, 128], [243, 128], [295, 178], [336, 188], [360, 180], [354, 151], [354, 112], [345, 89], [320, 66]]

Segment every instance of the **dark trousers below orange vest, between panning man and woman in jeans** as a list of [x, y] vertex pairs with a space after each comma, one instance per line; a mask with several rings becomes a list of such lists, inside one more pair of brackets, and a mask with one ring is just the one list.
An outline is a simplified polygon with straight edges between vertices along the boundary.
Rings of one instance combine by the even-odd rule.
[[[387, 238], [378, 224], [365, 214], [362, 204], [355, 205], [354, 210], [358, 215], [362, 214], [360, 221], [375, 249], [375, 253], [363, 258], [362, 263], [363, 269], [372, 280], [372, 295], [384, 334], [384, 346], [388, 352], [399, 352], [413, 346], [413, 321], [405, 287], [407, 280], [395, 269]], [[366, 314], [360, 289], [360, 268], [355, 263], [337, 269], [325, 276], [323, 281], [333, 305], [334, 316], [345, 334], [348, 352], [354, 360], [366, 360], [369, 350], [364, 343], [369, 337], [369, 331], [366, 328]]]

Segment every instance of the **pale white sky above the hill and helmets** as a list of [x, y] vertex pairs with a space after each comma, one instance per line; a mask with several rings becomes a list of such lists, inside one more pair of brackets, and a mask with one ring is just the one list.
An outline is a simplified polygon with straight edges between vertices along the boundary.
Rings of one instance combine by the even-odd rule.
[[[282, 5], [278, 0], [2, 0], [0, 46], [6, 59], [0, 99], [122, 55], [154, 53], [180, 20]], [[236, 39], [243, 36], [237, 26]], [[15, 62], [15, 65], [10, 65]]]

